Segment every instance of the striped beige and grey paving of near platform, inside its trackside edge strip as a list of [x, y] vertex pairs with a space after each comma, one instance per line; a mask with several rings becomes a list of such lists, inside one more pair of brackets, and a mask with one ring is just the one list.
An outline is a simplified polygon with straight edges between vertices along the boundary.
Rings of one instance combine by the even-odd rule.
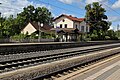
[[120, 56], [65, 80], [120, 80]]

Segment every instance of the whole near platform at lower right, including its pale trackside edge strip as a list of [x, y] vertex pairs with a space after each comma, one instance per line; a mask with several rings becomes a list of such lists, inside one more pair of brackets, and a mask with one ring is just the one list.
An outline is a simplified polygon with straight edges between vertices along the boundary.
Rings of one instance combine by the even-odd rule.
[[120, 55], [56, 80], [120, 80]]

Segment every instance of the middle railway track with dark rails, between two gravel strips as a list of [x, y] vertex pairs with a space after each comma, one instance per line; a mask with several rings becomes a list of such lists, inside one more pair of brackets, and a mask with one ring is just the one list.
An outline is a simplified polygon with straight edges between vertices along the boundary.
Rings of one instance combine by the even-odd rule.
[[[11, 61], [3, 61], [3, 62], [0, 62], [0, 73], [16, 70], [16, 69], [20, 69], [20, 68], [25, 68], [25, 67], [29, 67], [29, 66], [50, 63], [53, 61], [71, 58], [74, 56], [83, 56], [83, 55], [89, 54], [91, 52], [96, 52], [96, 51], [105, 50], [105, 49], [111, 49], [111, 48], [115, 48], [115, 47], [120, 47], [120, 46], [112, 45], [112, 46], [107, 46], [107, 47], [98, 47], [98, 48], [92, 48], [92, 49], [71, 51], [71, 52], [60, 53], [60, 54], [44, 55], [44, 56], [25, 58], [25, 59], [17, 59], [17, 60], [11, 60]], [[88, 64], [88, 63], [85, 63], [85, 65], [86, 64]], [[42, 77], [44, 77], [44, 76], [42, 76]]]

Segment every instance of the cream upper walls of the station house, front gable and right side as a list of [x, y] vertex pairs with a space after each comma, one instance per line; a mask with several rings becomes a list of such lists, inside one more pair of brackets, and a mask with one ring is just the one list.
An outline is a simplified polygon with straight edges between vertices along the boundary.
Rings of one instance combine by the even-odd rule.
[[[65, 16], [62, 16], [54, 21], [54, 28], [57, 28], [57, 27], [61, 28], [60, 27], [61, 25], [62, 25], [62, 28], [65, 28], [65, 25], [67, 25], [67, 28], [77, 28], [81, 32], [89, 32], [89, 26], [87, 26], [88, 28], [86, 28], [85, 21], [82, 21], [82, 22], [73, 21]], [[82, 27], [84, 27], [84, 29]]]

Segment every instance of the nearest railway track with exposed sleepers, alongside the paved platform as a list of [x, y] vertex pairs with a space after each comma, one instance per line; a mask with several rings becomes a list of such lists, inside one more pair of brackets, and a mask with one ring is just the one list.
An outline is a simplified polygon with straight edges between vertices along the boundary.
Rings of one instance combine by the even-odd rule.
[[[102, 64], [106, 63], [106, 61], [109, 62], [109, 60], [111, 58], [116, 57], [116, 56], [120, 56], [120, 53], [116, 53], [114, 55], [109, 55], [109, 56], [106, 56], [106, 57], [103, 57], [100, 59], [96, 59], [96, 60], [81, 64], [81, 65], [66, 68], [64, 70], [57, 71], [57, 72], [54, 72], [54, 73], [51, 73], [48, 75], [38, 76], [38, 77], [33, 78], [32, 80], [69, 80], [69, 78], [72, 78], [73, 76], [78, 75], [78, 73], [76, 73], [76, 74], [71, 74], [71, 73], [75, 73], [75, 72], [80, 71], [80, 70], [81, 71], [79, 72], [79, 74], [86, 72], [87, 70], [89, 70], [91, 68], [98, 67], [99, 66], [98, 64], [102, 65]], [[97, 65], [95, 65], [95, 64], [97, 64]], [[84, 68], [86, 68], [86, 69], [84, 69]]]

